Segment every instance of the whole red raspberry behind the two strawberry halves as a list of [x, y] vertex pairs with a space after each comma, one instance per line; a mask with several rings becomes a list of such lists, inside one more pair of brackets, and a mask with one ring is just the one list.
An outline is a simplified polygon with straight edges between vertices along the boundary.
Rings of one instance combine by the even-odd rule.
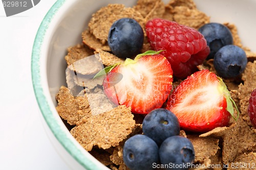
[[168, 59], [174, 76], [180, 79], [193, 74], [210, 53], [200, 32], [174, 21], [161, 18], [147, 21], [146, 35], [153, 50], [164, 50], [161, 54]]

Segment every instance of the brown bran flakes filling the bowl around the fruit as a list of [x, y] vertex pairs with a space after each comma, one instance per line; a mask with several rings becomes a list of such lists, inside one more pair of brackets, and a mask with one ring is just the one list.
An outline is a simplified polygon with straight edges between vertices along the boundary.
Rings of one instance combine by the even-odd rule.
[[[68, 48], [65, 59], [68, 65], [66, 81], [69, 88], [60, 87], [56, 94], [56, 110], [63, 120], [74, 126], [70, 132], [82, 147], [113, 170], [129, 169], [122, 159], [123, 144], [131, 136], [142, 134], [145, 115], [132, 114], [131, 108], [113, 105], [103, 92], [102, 78], [92, 80], [102, 67], [90, 68], [86, 66], [90, 65], [86, 60], [79, 60], [94, 54], [99, 57], [104, 67], [123, 62], [123, 59], [111, 53], [107, 43], [112, 23], [122, 17], [134, 18], [143, 29], [146, 21], [155, 17], [173, 20], [195, 29], [210, 22], [210, 17], [199, 11], [193, 0], [170, 0], [166, 5], [160, 0], [138, 0], [133, 8], [109, 4], [93, 14], [89, 28], [82, 32], [83, 44]], [[247, 113], [250, 92], [256, 88], [256, 53], [242, 45], [238, 29], [233, 23], [225, 22], [224, 25], [232, 33], [233, 44], [242, 47], [248, 58], [248, 64], [241, 76], [223, 79], [240, 111], [238, 121], [231, 118], [227, 127], [218, 127], [203, 134], [180, 131], [180, 135], [190, 139], [194, 145], [195, 164], [221, 165], [209, 168], [215, 170], [224, 169], [224, 164], [256, 162], [256, 129], [251, 127]], [[148, 50], [151, 47], [144, 32], [141, 53]], [[213, 59], [205, 61], [198, 69], [209, 69], [217, 74]], [[181, 82], [182, 80], [175, 80], [173, 90]], [[236, 110], [234, 112], [236, 114]], [[229, 166], [227, 169], [234, 168]]]

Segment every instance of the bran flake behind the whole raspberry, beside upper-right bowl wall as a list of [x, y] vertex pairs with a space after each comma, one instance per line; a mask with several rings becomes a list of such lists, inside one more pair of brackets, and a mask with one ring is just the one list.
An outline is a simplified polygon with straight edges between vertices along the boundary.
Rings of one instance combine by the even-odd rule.
[[210, 22], [210, 17], [197, 9], [189, 9], [185, 6], [174, 8], [174, 21], [181, 25], [199, 29]]

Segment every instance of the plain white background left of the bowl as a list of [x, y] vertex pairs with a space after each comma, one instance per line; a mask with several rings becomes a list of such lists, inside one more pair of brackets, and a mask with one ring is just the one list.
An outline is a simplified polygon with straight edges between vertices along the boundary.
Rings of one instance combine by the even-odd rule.
[[55, 2], [10, 17], [0, 2], [0, 169], [69, 170], [42, 124], [30, 71], [37, 29]]

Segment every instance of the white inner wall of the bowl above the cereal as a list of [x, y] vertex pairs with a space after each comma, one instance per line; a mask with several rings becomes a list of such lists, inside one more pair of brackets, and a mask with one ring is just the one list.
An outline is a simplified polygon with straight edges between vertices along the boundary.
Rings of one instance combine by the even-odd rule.
[[[54, 16], [51, 16], [54, 17], [54, 23], [50, 23], [50, 25], [53, 26], [51, 29], [46, 30], [50, 35], [49, 44], [47, 44], [48, 50], [45, 54], [40, 56], [41, 58], [46, 58], [46, 65], [44, 66], [46, 67], [46, 81], [48, 87], [45, 90], [48, 90], [50, 93], [50, 100], [47, 102], [52, 104], [50, 106], [53, 107], [52, 109], [55, 109], [54, 106], [57, 105], [55, 95], [58, 93], [59, 87], [61, 85], [67, 86], [65, 75], [67, 63], [64, 58], [67, 55], [67, 47], [82, 42], [81, 33], [87, 28], [87, 24], [92, 14], [100, 7], [110, 3], [124, 4], [127, 7], [133, 6], [136, 3], [135, 0], [76, 0], [72, 3], [65, 0], [59, 1], [61, 1], [63, 5], [58, 7], [58, 12], [56, 12]], [[234, 23], [238, 27], [238, 32], [243, 45], [250, 47], [252, 51], [256, 51], [256, 46], [253, 46], [252, 42], [256, 39], [256, 34], [254, 33], [256, 23], [253, 22], [254, 16], [256, 16], [256, 11], [253, 10], [256, 8], [256, 1], [195, 0], [195, 3], [199, 10], [211, 17], [210, 20], [212, 22]], [[45, 73], [39, 72], [38, 74]], [[42, 77], [42, 79], [43, 78], [44, 77]], [[40, 105], [40, 102], [38, 103]], [[58, 116], [56, 111], [52, 112], [52, 114]], [[72, 136], [70, 135], [70, 137]], [[58, 138], [58, 140], [61, 139]], [[73, 154], [71, 153], [71, 155]]]

